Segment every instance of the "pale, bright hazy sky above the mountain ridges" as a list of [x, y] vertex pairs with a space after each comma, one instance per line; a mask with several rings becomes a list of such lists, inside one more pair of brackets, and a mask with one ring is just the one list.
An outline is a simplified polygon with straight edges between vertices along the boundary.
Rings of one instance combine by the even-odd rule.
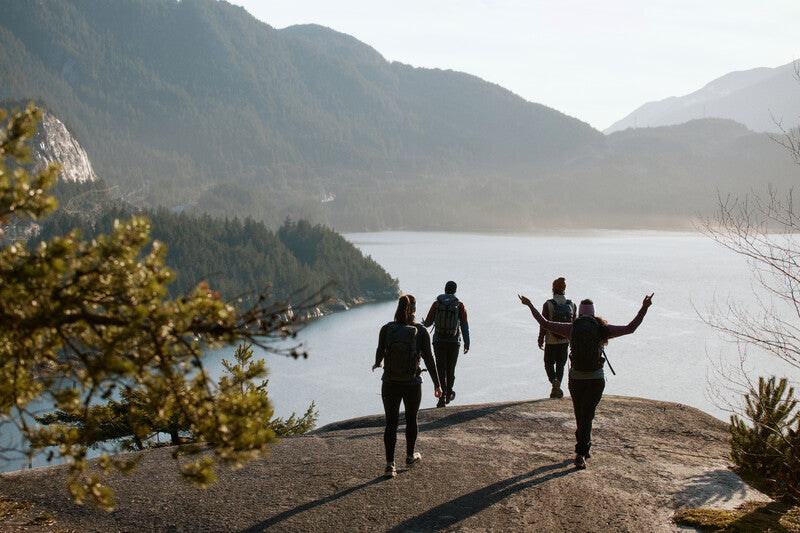
[[798, 0], [232, 0], [387, 60], [468, 72], [602, 130], [728, 72], [800, 59]]

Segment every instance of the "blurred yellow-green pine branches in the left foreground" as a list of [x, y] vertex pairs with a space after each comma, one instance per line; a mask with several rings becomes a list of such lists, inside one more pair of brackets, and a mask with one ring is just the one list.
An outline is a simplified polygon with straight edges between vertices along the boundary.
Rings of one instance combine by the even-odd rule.
[[[31, 177], [18, 166], [39, 112], [31, 106], [0, 115], [6, 118], [0, 129], [0, 216], [41, 217], [55, 208], [45, 189], [57, 167]], [[273, 341], [296, 334], [303, 310], [319, 304], [314, 298], [297, 302], [292, 314], [263, 295], [240, 309], [207, 283], [170, 299], [174, 274], [164, 264], [165, 247], [150, 242], [151, 229], [149, 220], [134, 217], [115, 220], [109, 234], [91, 241], [67, 233], [33, 248], [17, 242], [0, 249], [0, 423], [18, 425], [31, 443], [29, 455], [57, 450], [69, 462], [73, 499], [104, 508], [113, 507], [112, 492], [86, 461], [86, 442], [106, 416], [92, 409], [97, 401], [128, 386], [141, 392], [137, 402], [154, 416], [153, 425], [169, 427], [177, 417], [210, 447], [210, 454], [178, 461], [187, 478], [205, 485], [217, 462], [239, 466], [267, 453], [274, 434], [266, 428], [266, 398], [215, 391], [202, 350], [244, 340], [297, 357]], [[80, 423], [32, 424], [32, 402], [51, 404]], [[199, 449], [184, 450], [191, 451]], [[98, 465], [101, 472], [130, 468], [108, 456]]]

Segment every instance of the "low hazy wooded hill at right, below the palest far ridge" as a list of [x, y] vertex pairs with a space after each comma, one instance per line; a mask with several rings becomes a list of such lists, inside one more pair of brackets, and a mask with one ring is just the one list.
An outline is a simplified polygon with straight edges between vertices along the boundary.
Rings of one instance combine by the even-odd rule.
[[607, 141], [559, 180], [563, 197], [591, 206], [573, 213], [575, 226], [692, 229], [692, 218], [713, 213], [719, 196], [763, 194], [767, 184], [785, 192], [800, 176], [769, 134], [732, 120], [627, 129]]

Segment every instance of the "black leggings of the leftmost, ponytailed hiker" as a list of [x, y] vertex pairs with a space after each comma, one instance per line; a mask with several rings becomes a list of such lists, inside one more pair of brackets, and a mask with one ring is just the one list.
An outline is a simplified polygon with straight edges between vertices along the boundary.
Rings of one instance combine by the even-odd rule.
[[419, 426], [417, 413], [422, 402], [422, 383], [392, 383], [384, 381], [381, 387], [383, 411], [386, 413], [386, 429], [383, 432], [383, 446], [386, 462], [394, 462], [394, 447], [397, 444], [397, 426], [400, 424], [400, 402], [406, 408], [406, 454], [414, 454]]

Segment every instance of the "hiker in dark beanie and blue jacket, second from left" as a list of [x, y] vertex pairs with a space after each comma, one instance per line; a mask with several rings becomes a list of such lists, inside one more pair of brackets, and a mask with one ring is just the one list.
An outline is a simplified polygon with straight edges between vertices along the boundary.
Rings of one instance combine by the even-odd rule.
[[436, 407], [444, 407], [456, 397], [453, 382], [456, 380], [456, 362], [461, 348], [461, 334], [464, 335], [464, 355], [469, 351], [469, 323], [464, 304], [456, 298], [456, 282], [448, 281], [444, 285], [444, 294], [440, 294], [431, 305], [428, 316], [422, 321], [425, 327], [434, 326], [433, 353], [436, 354], [436, 368], [439, 370], [439, 383], [444, 394], [439, 398]]

